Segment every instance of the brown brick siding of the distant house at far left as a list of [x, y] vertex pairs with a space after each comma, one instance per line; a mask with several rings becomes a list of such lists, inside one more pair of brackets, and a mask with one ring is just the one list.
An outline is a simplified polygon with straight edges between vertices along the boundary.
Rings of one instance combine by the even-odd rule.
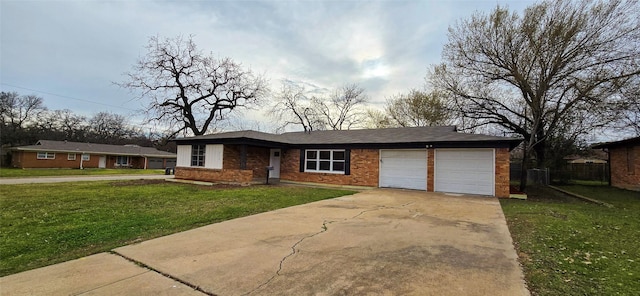
[[[11, 166], [15, 168], [69, 168], [79, 169], [82, 153], [76, 153], [76, 160], [67, 160], [68, 153], [56, 152], [55, 159], [38, 159], [37, 152], [13, 151], [11, 156]], [[82, 167], [98, 168], [101, 154], [90, 154], [89, 160], [82, 161]], [[106, 168], [116, 167], [116, 156], [107, 156]], [[144, 157], [129, 157], [129, 168], [143, 169]]]

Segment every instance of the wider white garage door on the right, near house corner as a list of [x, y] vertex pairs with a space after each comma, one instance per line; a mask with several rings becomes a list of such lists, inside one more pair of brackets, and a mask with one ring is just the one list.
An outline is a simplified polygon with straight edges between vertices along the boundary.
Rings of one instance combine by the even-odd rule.
[[435, 191], [494, 195], [493, 149], [436, 149]]

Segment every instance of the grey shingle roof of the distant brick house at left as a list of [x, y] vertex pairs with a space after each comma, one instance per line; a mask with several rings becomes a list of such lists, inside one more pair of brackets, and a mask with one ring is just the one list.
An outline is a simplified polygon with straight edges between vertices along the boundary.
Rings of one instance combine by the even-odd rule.
[[152, 147], [141, 147], [137, 145], [108, 145], [67, 141], [40, 140], [36, 145], [14, 147], [15, 150], [22, 151], [47, 151], [47, 152], [67, 152], [67, 153], [93, 153], [108, 155], [131, 155], [175, 158], [176, 154], [160, 151]]

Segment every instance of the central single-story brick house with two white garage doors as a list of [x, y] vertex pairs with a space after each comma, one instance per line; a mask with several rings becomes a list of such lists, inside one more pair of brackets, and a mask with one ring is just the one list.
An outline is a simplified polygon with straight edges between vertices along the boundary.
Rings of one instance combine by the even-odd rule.
[[[521, 140], [453, 126], [175, 139], [176, 178], [254, 179], [509, 196], [509, 151]], [[272, 167], [268, 171], [267, 167]]]

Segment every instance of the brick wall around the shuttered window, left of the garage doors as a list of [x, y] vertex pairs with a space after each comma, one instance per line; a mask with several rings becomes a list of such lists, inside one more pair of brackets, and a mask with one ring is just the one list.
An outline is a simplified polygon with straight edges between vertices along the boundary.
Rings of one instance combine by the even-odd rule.
[[336, 185], [378, 187], [379, 150], [351, 149], [351, 174], [300, 172], [300, 150], [283, 151], [280, 179]]

